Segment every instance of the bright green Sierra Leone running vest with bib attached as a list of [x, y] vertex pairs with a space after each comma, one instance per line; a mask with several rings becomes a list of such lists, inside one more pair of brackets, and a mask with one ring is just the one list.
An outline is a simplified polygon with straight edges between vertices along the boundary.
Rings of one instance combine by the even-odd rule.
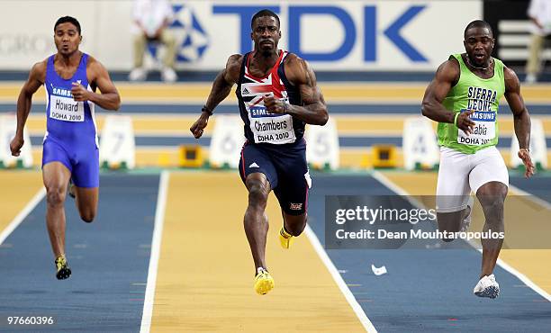
[[470, 118], [474, 121], [474, 132], [466, 135], [455, 124], [438, 122], [438, 145], [452, 148], [465, 154], [474, 154], [480, 149], [497, 145], [498, 123], [497, 112], [500, 100], [505, 94], [503, 63], [493, 58], [493, 76], [480, 78], [466, 67], [461, 54], [450, 58], [459, 62], [459, 82], [452, 86], [442, 103], [451, 112], [474, 110]]

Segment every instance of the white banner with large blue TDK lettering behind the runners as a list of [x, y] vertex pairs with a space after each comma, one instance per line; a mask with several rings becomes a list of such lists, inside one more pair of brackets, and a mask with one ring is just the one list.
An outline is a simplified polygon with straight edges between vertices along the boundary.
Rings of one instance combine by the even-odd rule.
[[[326, 70], [432, 70], [460, 52], [482, 1], [283, 1], [175, 4], [173, 29], [186, 30], [179, 63], [214, 69], [252, 48], [250, 18], [279, 15], [280, 47]], [[191, 13], [190, 13], [191, 12]], [[182, 14], [179, 14], [182, 13]]]

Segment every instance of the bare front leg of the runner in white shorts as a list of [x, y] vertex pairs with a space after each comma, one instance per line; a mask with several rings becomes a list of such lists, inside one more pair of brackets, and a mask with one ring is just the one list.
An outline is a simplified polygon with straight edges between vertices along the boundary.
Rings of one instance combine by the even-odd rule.
[[[507, 196], [507, 185], [500, 182], [490, 182], [483, 184], [476, 191], [476, 197], [483, 207], [485, 223], [483, 231], [504, 232], [505, 226], [503, 223], [503, 202]], [[502, 238], [483, 238], [483, 260], [482, 272], [480, 277], [484, 275], [492, 275], [493, 268], [500, 255]]]

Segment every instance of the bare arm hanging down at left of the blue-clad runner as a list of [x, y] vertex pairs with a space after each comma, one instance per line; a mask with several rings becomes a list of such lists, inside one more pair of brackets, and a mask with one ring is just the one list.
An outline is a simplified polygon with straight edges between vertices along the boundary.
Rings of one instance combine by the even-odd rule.
[[17, 130], [15, 130], [15, 137], [10, 143], [13, 156], [21, 154], [21, 148], [24, 143], [23, 129], [25, 128], [29, 112], [31, 112], [32, 95], [36, 93], [46, 80], [46, 65], [47, 60], [44, 60], [32, 66], [29, 78], [23, 85], [21, 93], [19, 93], [19, 97], [17, 98]]

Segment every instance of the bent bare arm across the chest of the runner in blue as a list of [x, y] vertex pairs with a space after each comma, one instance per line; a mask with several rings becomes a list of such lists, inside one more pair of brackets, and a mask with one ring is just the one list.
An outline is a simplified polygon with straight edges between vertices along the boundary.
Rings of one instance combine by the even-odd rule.
[[[105, 110], [119, 110], [121, 107], [121, 96], [113, 85], [113, 81], [111, 81], [111, 77], [109, 77], [109, 73], [107, 73], [104, 65], [95, 58], [90, 57], [88, 58], [86, 73], [93, 91], [89, 91], [83, 85], [73, 82], [73, 88], [71, 89], [73, 99], [77, 102], [93, 102]], [[102, 94], [95, 93], [96, 87], [99, 88]]]

